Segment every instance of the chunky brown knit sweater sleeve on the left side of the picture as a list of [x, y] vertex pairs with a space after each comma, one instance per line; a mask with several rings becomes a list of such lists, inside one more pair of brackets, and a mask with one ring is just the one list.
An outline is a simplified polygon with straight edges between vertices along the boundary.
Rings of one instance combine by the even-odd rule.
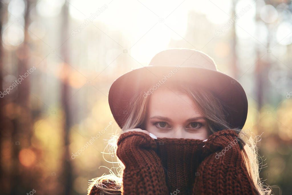
[[117, 156], [125, 165], [122, 191], [124, 194], [167, 194], [157, 144], [143, 132], [126, 132], [117, 142]]

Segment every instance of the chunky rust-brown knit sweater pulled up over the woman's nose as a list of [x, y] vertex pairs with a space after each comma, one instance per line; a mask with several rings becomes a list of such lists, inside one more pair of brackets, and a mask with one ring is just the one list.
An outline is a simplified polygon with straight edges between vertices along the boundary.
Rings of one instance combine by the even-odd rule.
[[[258, 194], [232, 130], [216, 132], [206, 142], [152, 139], [130, 131], [121, 134], [117, 145], [117, 156], [125, 165], [125, 195]], [[89, 194], [101, 193], [93, 186]]]

